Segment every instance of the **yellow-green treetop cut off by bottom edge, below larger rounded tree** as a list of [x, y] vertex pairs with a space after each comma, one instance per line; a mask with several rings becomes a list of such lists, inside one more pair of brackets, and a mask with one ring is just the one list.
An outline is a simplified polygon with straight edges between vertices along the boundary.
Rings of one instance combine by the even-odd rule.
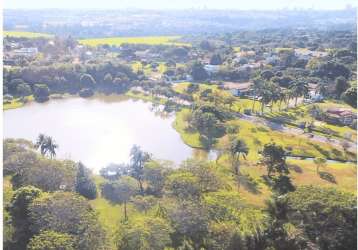
[[66, 233], [43, 231], [31, 238], [27, 245], [28, 250], [75, 250], [74, 238]]

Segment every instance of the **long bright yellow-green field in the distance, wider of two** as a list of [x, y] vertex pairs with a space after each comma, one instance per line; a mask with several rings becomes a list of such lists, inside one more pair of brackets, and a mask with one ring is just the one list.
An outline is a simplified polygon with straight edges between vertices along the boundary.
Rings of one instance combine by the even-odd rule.
[[145, 36], [145, 37], [108, 37], [108, 38], [91, 38], [79, 40], [81, 44], [97, 46], [101, 44], [120, 46], [124, 43], [130, 44], [147, 44], [147, 45], [176, 45], [190, 46], [188, 43], [176, 42], [180, 36]]

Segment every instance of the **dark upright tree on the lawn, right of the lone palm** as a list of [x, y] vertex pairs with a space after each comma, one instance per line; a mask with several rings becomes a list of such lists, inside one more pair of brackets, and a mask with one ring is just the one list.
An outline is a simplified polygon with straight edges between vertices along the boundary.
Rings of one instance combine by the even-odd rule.
[[275, 143], [264, 145], [262, 151], [262, 163], [267, 168], [267, 176], [272, 178], [272, 174], [287, 174], [288, 167], [286, 164], [285, 150]]

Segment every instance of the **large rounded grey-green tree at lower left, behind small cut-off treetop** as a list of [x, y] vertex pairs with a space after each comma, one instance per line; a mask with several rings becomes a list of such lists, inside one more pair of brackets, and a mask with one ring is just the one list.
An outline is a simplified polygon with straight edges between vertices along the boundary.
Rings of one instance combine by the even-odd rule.
[[54, 192], [35, 199], [29, 207], [31, 231], [55, 231], [74, 238], [74, 249], [107, 249], [106, 234], [88, 201], [75, 193]]

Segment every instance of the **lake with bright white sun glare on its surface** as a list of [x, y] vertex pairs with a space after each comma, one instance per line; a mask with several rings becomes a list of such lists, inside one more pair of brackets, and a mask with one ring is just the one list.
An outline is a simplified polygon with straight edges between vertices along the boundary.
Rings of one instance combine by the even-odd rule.
[[174, 116], [158, 115], [141, 100], [66, 98], [4, 111], [4, 137], [35, 141], [40, 133], [50, 135], [59, 145], [58, 158], [82, 161], [96, 172], [109, 163], [128, 162], [134, 144], [176, 164], [203, 157], [205, 152], [184, 144], [173, 121]]

